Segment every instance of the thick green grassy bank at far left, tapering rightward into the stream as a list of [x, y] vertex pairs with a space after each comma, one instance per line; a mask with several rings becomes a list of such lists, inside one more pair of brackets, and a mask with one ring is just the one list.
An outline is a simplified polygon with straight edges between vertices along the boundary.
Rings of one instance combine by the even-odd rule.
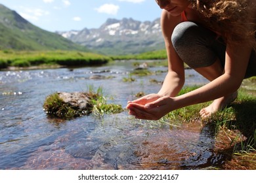
[[110, 60], [108, 56], [77, 51], [0, 51], [0, 69], [40, 65], [98, 65]]

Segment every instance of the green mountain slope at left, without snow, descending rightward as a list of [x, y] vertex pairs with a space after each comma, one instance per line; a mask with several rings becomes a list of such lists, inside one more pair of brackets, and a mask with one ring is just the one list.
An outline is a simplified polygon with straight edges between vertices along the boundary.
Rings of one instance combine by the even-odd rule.
[[0, 4], [0, 50], [79, 50], [85, 46], [40, 29]]

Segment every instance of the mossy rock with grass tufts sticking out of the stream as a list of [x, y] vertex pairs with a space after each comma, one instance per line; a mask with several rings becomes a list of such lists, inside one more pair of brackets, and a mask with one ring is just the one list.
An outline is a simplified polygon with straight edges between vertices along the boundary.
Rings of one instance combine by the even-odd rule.
[[43, 109], [48, 116], [72, 119], [89, 115], [115, 114], [123, 112], [121, 105], [106, 104], [106, 99], [98, 93], [57, 92], [45, 99]]

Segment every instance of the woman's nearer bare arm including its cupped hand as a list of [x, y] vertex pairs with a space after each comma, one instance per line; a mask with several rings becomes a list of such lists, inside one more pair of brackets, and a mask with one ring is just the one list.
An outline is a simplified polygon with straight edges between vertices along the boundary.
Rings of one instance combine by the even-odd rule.
[[129, 107], [130, 114], [139, 119], [158, 120], [172, 110], [211, 101], [235, 92], [244, 79], [250, 54], [251, 46], [247, 44], [240, 46], [228, 44], [223, 75], [197, 90], [177, 97], [160, 97], [146, 105], [132, 103]]

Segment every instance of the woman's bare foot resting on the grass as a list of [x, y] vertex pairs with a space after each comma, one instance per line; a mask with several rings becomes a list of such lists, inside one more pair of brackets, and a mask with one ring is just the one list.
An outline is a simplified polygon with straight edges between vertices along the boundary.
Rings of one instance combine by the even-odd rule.
[[232, 103], [238, 97], [238, 92], [231, 93], [219, 99], [215, 99], [211, 105], [202, 108], [200, 110], [200, 115], [202, 118], [208, 118], [211, 114], [216, 113], [219, 110], [223, 110], [227, 105]]

